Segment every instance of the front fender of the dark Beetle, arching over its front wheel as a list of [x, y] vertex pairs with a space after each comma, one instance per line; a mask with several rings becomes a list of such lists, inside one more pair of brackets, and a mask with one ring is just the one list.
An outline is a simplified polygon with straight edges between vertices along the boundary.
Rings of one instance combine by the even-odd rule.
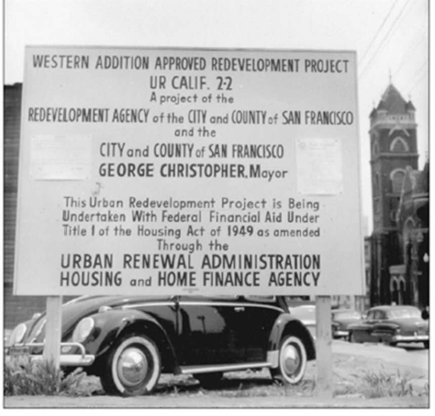
[[173, 345], [168, 334], [151, 315], [134, 310], [109, 310], [90, 315], [95, 321], [95, 327], [90, 337], [83, 344], [88, 353], [99, 357], [106, 353], [116, 339], [126, 330], [143, 330], [148, 328], [152, 336], [158, 336], [159, 341], [165, 344], [167, 352], [175, 358]]

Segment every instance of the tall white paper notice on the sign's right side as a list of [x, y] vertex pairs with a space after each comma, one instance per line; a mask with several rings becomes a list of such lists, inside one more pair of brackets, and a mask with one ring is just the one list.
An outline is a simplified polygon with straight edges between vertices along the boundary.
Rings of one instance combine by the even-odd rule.
[[343, 193], [340, 140], [298, 139], [296, 166], [298, 194], [340, 195]]

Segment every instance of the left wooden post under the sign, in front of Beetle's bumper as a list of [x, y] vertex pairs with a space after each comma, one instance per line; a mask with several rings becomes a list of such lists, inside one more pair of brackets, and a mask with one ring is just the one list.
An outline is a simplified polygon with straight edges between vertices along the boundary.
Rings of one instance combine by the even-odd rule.
[[62, 337], [62, 296], [47, 297], [47, 323], [45, 330], [44, 360], [60, 368], [60, 342]]

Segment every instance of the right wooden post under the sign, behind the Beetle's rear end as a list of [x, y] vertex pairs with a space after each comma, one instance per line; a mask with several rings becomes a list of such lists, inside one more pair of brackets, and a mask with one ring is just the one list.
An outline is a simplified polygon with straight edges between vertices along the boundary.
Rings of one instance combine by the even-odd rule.
[[331, 296], [315, 297], [315, 315], [316, 361], [318, 368], [316, 394], [324, 399], [332, 399]]

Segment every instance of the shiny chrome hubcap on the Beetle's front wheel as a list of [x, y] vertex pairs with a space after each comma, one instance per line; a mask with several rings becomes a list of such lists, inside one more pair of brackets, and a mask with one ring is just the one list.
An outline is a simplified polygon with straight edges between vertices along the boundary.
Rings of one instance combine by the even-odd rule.
[[137, 348], [128, 348], [118, 360], [118, 374], [124, 385], [134, 386], [141, 383], [148, 371], [145, 354]]

